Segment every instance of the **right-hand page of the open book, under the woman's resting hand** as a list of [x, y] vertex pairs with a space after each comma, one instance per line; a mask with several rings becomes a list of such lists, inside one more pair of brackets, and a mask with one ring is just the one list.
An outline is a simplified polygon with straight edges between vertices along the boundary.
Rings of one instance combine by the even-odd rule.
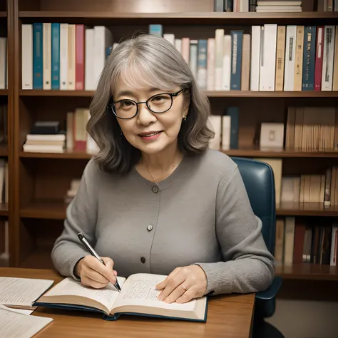
[[192, 311], [195, 308], [195, 299], [184, 304], [167, 304], [157, 299], [160, 290], [155, 286], [162, 282], [166, 276], [135, 274], [128, 278], [121, 291], [115, 307], [121, 305], [145, 305], [148, 307], [160, 307], [162, 309], [180, 309], [181, 311]]

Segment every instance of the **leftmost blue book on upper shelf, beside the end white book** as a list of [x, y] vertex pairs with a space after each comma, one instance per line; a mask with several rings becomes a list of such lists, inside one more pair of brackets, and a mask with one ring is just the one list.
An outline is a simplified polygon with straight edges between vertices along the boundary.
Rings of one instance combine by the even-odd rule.
[[33, 89], [43, 88], [42, 23], [33, 24]]

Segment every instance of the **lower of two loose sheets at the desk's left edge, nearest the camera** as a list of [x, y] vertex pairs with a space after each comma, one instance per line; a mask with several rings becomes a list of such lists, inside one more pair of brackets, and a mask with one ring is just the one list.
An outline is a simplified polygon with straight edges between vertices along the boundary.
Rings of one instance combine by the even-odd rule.
[[28, 316], [0, 305], [1, 337], [30, 338], [52, 321], [53, 318]]

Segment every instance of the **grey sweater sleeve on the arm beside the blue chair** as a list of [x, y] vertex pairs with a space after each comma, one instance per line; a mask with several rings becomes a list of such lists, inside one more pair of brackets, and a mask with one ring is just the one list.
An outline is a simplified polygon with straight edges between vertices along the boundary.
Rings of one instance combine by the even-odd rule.
[[252, 212], [237, 166], [220, 181], [215, 217], [223, 261], [197, 263], [207, 275], [205, 293], [266, 290], [274, 277], [274, 257], [267, 250], [261, 234], [262, 222]]

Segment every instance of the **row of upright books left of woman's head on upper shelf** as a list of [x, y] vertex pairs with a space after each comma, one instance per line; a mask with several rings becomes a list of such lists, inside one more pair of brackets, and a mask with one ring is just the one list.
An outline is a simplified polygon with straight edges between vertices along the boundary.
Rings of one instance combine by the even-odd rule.
[[22, 25], [22, 89], [96, 89], [113, 34], [106, 26]]

